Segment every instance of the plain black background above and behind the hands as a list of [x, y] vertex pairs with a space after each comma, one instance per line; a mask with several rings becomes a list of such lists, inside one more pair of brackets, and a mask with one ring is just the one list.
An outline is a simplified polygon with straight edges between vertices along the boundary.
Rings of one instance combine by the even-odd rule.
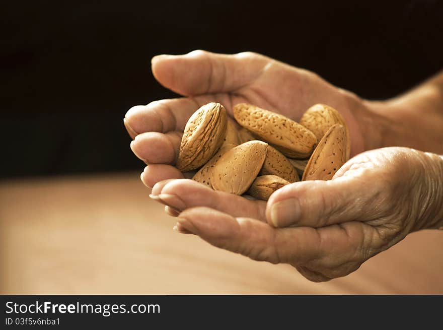
[[142, 170], [123, 116], [175, 97], [151, 57], [256, 51], [370, 99], [443, 67], [441, 1], [10, 1], [0, 5], [0, 177]]

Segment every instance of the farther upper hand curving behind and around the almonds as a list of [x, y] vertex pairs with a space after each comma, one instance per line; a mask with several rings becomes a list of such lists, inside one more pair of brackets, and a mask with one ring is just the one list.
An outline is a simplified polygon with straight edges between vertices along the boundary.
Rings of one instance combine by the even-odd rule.
[[234, 105], [247, 102], [294, 120], [315, 103], [325, 103], [345, 118], [352, 137], [351, 155], [377, 140], [378, 125], [370, 124], [374, 114], [367, 103], [312, 72], [260, 54], [196, 50], [160, 55], [153, 58], [152, 71], [163, 86], [187, 97], [134, 106], [126, 113], [125, 126], [134, 139], [131, 149], [149, 164], [141, 179], [150, 187], [164, 179], [183, 178], [173, 166], [183, 129], [194, 111], [212, 101], [223, 104], [231, 115]]

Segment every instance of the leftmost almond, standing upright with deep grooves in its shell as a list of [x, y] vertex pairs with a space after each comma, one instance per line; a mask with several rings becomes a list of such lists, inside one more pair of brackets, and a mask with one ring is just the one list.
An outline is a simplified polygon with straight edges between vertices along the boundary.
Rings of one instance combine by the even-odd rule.
[[187, 172], [205, 164], [223, 144], [228, 115], [220, 103], [208, 103], [186, 123], [176, 167]]

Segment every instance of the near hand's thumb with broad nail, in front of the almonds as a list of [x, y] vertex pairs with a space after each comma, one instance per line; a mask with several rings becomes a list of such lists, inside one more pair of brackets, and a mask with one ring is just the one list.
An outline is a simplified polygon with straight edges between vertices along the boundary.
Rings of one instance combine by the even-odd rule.
[[360, 177], [294, 182], [271, 195], [266, 219], [274, 227], [324, 227], [370, 220], [377, 212], [372, 202], [378, 195], [376, 186]]

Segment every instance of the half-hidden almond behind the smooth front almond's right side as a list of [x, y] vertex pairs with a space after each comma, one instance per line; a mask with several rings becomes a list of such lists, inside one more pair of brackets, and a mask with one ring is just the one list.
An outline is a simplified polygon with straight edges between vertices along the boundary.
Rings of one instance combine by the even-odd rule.
[[258, 175], [277, 175], [286, 181], [299, 181], [299, 175], [296, 169], [282, 153], [275, 148], [268, 146], [266, 158]]

